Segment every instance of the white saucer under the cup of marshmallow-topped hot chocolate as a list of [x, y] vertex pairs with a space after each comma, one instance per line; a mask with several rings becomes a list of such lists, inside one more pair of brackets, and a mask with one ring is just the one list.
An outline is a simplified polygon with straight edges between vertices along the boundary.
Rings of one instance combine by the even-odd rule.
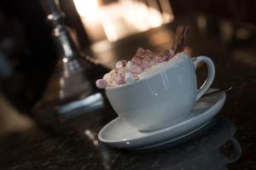
[[[211, 88], [208, 93], [215, 90]], [[98, 139], [113, 147], [136, 150], [170, 143], [205, 127], [218, 114], [218, 111], [224, 105], [225, 99], [225, 93], [203, 97], [195, 104], [194, 109], [183, 122], [178, 122], [171, 127], [154, 132], [139, 132], [136, 127], [132, 127], [120, 117], [117, 117], [102, 128], [98, 134]]]

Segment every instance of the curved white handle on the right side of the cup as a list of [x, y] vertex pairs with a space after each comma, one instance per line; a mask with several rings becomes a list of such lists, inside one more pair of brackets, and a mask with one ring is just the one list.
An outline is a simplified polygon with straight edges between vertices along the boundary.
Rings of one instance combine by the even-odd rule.
[[200, 62], [206, 63], [207, 69], [208, 69], [208, 75], [207, 75], [206, 81], [203, 83], [203, 85], [201, 85], [201, 88], [199, 88], [197, 90], [196, 99], [195, 99], [195, 101], [197, 101], [198, 99], [201, 98], [201, 96], [203, 94], [205, 94], [207, 92], [207, 90], [212, 85], [213, 79], [215, 77], [215, 67], [212, 62], [212, 59], [210, 59], [206, 56], [196, 57], [196, 58], [192, 59], [192, 61], [193, 61], [193, 65], [194, 65], [195, 69], [196, 69], [196, 66], [198, 65], [198, 63], [200, 63]]

